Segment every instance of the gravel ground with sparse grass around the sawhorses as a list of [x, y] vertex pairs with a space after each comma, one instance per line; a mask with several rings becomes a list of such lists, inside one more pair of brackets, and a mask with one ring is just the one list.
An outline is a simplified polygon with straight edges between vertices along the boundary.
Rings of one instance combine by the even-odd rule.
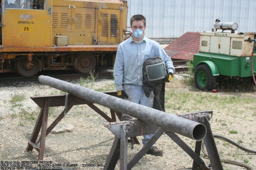
[[[178, 78], [178, 76], [176, 76]], [[79, 85], [78, 81], [71, 81]], [[173, 81], [166, 86], [166, 91], [173, 88], [176, 92], [189, 92], [196, 93], [198, 95], [209, 95], [209, 92], [201, 92], [191, 87], [182, 85], [175, 85], [177, 81]], [[2, 84], [0, 85], [0, 160], [1, 161], [36, 161], [38, 158], [38, 152], [34, 149], [32, 152], [27, 152], [26, 147], [28, 140], [33, 131], [37, 115], [40, 111], [39, 107], [30, 99], [30, 96], [35, 95], [55, 95], [63, 94], [54, 88], [51, 88], [40, 83], [15, 83], [15, 84]], [[93, 89], [107, 89], [115, 90], [112, 79], [96, 80], [95, 83], [89, 85], [89, 88]], [[219, 96], [237, 95], [238, 93], [225, 93], [219, 92]], [[239, 93], [240, 96], [256, 97], [255, 92], [251, 93]], [[14, 97], [20, 96], [22, 100], [13, 101]], [[190, 105], [186, 102], [184, 105]], [[230, 137], [232, 140], [237, 141], [241, 139], [243, 146], [256, 150], [256, 123], [255, 116], [231, 116], [232, 108], [237, 107], [239, 109], [246, 109], [244, 114], [255, 114], [254, 100], [252, 103], [248, 103], [248, 106], [234, 106], [227, 105], [226, 108], [205, 108], [205, 106], [198, 106], [199, 109], [212, 109], [214, 111], [213, 118], [211, 120], [212, 131], [214, 134]], [[203, 104], [202, 104], [203, 105]], [[213, 103], [214, 105], [214, 103]], [[99, 106], [104, 112], [108, 112], [107, 108]], [[63, 110], [63, 107], [54, 107], [49, 110], [48, 125], [52, 122]], [[194, 110], [191, 110], [194, 111]], [[186, 110], [175, 110], [173, 108], [167, 108], [167, 113], [183, 113]], [[230, 112], [230, 115], [226, 114]], [[109, 113], [108, 113], [109, 114]], [[109, 114], [110, 115], [110, 114]], [[217, 119], [232, 121], [230, 129], [236, 129], [238, 135], [228, 134], [220, 125]], [[68, 114], [61, 120], [60, 125], [72, 125], [71, 132], [53, 134], [50, 133], [46, 137], [44, 161], [52, 161], [52, 164], [77, 164], [76, 167], [67, 167], [70, 169], [102, 169], [103, 167], [82, 167], [82, 164], [105, 164], [108, 153], [111, 149], [114, 141], [114, 135], [105, 128], [104, 120], [100, 115], [94, 112], [90, 107], [79, 105], [74, 106]], [[195, 147], [195, 141], [186, 137], [180, 136], [191, 148]], [[138, 137], [141, 141], [142, 137]], [[256, 169], [256, 155], [247, 153], [237, 149], [233, 145], [217, 140], [216, 142], [220, 157], [226, 159], [236, 160], [243, 162], [243, 160], [249, 160], [247, 165]], [[155, 144], [158, 148], [164, 150], [163, 156], [152, 156], [146, 154], [133, 169], [179, 169], [185, 167], [191, 167], [193, 160], [182, 150], [177, 144], [175, 144], [167, 135], [162, 135]], [[141, 145], [134, 145], [134, 149], [131, 149], [131, 145], [128, 146], [128, 161], [141, 149]], [[194, 149], [193, 149], [194, 150]], [[237, 156], [238, 155], [238, 156]], [[201, 158], [208, 165], [209, 159], [201, 154]], [[32, 164], [36, 166], [36, 164]], [[223, 163], [224, 169], [244, 169], [240, 166], [234, 166]], [[116, 166], [119, 169], [119, 162]]]

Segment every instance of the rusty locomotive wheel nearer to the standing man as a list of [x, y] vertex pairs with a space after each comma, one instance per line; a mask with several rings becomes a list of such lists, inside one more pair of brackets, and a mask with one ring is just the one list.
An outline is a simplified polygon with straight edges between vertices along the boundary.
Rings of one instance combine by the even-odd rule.
[[77, 72], [87, 74], [95, 68], [96, 60], [92, 54], [78, 54], [74, 65]]

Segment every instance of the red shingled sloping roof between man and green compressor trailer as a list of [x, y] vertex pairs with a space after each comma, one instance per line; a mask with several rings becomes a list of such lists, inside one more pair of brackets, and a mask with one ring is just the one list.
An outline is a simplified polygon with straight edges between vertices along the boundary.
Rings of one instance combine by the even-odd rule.
[[164, 48], [172, 59], [193, 60], [193, 55], [199, 52], [200, 33], [187, 32]]

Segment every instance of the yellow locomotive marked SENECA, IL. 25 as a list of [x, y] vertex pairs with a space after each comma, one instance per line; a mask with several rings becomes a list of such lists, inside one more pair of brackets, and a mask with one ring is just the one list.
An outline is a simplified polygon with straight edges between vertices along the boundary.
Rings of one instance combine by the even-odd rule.
[[0, 73], [112, 67], [127, 8], [124, 0], [1, 0]]

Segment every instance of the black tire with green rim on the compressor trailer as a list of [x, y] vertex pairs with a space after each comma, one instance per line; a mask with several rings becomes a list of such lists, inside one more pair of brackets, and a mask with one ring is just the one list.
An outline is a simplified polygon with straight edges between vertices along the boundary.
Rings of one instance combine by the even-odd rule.
[[195, 83], [196, 87], [200, 90], [212, 90], [216, 77], [212, 76], [210, 68], [206, 64], [201, 64], [195, 70]]

